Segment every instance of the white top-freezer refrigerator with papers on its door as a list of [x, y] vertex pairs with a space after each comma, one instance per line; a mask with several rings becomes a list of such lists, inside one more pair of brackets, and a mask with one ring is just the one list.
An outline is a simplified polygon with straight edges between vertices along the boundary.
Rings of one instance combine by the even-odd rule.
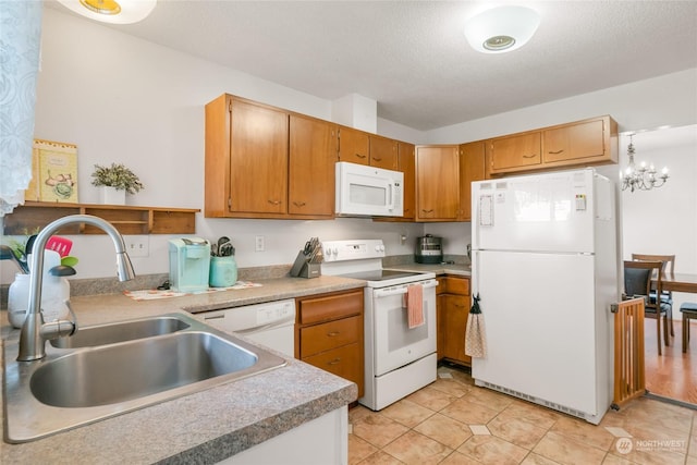
[[592, 169], [472, 185], [477, 386], [598, 424], [612, 403], [615, 188]]

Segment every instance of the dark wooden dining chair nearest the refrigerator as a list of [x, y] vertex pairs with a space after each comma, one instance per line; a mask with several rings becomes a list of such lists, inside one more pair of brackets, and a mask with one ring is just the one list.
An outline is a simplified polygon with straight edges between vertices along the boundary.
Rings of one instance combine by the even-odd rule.
[[657, 274], [656, 291], [658, 295], [661, 295], [661, 292], [663, 291], [662, 269], [662, 261], [624, 261], [624, 292], [627, 298], [639, 295], [646, 298], [645, 316], [647, 318], [656, 319], [658, 355], [663, 354], [661, 347], [661, 317], [663, 317], [663, 341], [667, 346], [670, 345], [668, 335], [668, 313], [671, 309], [671, 305], [662, 302], [660, 298], [658, 301], [653, 299], [653, 303], [651, 303], [649, 295], [651, 293], [651, 277], [653, 273]]

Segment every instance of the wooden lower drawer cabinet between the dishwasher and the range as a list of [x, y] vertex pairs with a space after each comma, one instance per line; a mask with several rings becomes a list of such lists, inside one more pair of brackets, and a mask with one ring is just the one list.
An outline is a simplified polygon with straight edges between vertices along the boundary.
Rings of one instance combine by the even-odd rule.
[[295, 299], [295, 357], [353, 381], [364, 393], [363, 289]]

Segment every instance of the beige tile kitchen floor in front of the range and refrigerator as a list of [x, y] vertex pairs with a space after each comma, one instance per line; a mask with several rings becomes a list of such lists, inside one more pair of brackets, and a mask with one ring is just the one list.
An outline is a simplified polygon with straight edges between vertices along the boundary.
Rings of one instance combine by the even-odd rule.
[[441, 367], [436, 382], [372, 412], [348, 412], [350, 464], [697, 465], [697, 411], [647, 397], [600, 425], [474, 386]]

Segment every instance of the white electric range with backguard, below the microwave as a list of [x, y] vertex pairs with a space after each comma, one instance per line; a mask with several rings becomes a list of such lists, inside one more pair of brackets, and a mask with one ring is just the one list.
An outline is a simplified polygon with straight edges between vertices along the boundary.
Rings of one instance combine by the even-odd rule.
[[[436, 274], [383, 269], [381, 240], [325, 241], [322, 274], [366, 281], [364, 291], [365, 395], [379, 411], [436, 381]], [[404, 295], [423, 287], [424, 325], [409, 329]]]

